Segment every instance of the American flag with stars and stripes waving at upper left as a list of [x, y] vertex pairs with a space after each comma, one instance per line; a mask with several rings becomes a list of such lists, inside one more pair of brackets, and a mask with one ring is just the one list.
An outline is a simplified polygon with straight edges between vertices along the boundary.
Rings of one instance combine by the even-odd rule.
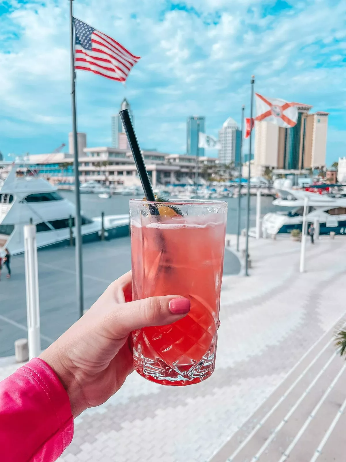
[[125, 82], [132, 67], [140, 60], [112, 37], [79, 19], [73, 18], [75, 30], [75, 69], [91, 71], [107, 79]]

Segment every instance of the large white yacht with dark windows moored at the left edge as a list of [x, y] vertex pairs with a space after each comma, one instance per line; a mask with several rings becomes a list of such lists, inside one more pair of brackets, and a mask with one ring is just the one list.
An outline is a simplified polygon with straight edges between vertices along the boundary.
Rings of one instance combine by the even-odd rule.
[[[75, 206], [57, 188], [30, 170], [17, 171], [14, 165], [0, 189], [0, 252], [6, 247], [12, 254], [24, 252], [23, 226], [30, 222], [36, 225], [37, 247], [68, 241], [69, 219], [74, 216]], [[129, 223], [128, 214], [104, 217], [105, 236], [127, 235]], [[100, 234], [101, 219], [82, 215], [83, 239], [97, 240]]]

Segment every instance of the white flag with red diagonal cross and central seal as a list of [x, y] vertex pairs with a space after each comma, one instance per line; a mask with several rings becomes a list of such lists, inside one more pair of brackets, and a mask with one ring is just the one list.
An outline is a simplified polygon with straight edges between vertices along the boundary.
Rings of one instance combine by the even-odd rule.
[[256, 119], [274, 123], [279, 127], [294, 127], [298, 120], [298, 103], [288, 103], [279, 98], [267, 98], [256, 93]]

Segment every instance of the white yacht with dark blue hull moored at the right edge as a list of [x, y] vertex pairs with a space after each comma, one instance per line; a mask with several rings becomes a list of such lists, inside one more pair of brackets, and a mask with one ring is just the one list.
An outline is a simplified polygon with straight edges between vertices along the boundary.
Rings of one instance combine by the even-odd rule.
[[267, 213], [262, 219], [263, 234], [290, 233], [302, 230], [304, 199], [308, 199], [306, 221], [319, 226], [320, 234], [346, 234], [346, 198], [335, 198], [298, 189], [278, 189], [273, 205], [291, 210]]

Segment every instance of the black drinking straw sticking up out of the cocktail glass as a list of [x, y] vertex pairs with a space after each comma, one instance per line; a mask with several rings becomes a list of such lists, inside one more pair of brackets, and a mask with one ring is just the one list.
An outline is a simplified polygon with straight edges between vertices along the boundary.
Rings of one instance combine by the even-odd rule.
[[137, 136], [133, 129], [130, 113], [128, 109], [119, 112], [123, 122], [127, 140], [129, 142], [133, 158], [137, 167], [139, 178], [141, 179], [145, 198], [148, 202], [155, 202], [155, 195], [150, 183], [149, 175], [144, 164], [141, 148], [139, 147]]

